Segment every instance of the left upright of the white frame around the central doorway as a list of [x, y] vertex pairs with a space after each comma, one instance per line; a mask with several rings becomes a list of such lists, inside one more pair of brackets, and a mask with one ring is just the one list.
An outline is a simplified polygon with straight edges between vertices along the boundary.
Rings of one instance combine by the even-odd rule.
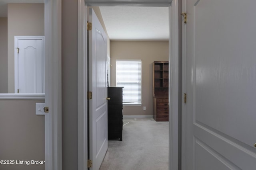
[[78, 0], [78, 170], [87, 169], [87, 7]]

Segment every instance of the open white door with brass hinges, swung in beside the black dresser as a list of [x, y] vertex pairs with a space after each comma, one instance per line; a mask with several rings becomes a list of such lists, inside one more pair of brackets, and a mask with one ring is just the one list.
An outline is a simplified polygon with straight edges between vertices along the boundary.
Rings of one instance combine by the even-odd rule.
[[92, 170], [98, 170], [108, 149], [107, 37], [96, 14], [89, 9], [89, 152]]

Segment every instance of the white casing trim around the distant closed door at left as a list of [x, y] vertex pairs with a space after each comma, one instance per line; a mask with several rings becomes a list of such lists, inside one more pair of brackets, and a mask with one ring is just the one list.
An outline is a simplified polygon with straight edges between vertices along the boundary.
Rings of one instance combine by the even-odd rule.
[[41, 39], [42, 40], [42, 57], [43, 57], [43, 64], [42, 64], [42, 93], [44, 93], [44, 79], [45, 79], [45, 75], [44, 75], [44, 36], [14, 36], [14, 93], [17, 93], [17, 89], [18, 89], [18, 53], [17, 53], [17, 47], [18, 47], [18, 40], [22, 40], [22, 39]]

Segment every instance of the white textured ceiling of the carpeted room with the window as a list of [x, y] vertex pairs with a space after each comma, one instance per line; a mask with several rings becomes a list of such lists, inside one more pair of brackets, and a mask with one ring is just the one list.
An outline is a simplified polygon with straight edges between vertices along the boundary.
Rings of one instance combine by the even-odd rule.
[[110, 40], [168, 40], [168, 7], [100, 7]]

